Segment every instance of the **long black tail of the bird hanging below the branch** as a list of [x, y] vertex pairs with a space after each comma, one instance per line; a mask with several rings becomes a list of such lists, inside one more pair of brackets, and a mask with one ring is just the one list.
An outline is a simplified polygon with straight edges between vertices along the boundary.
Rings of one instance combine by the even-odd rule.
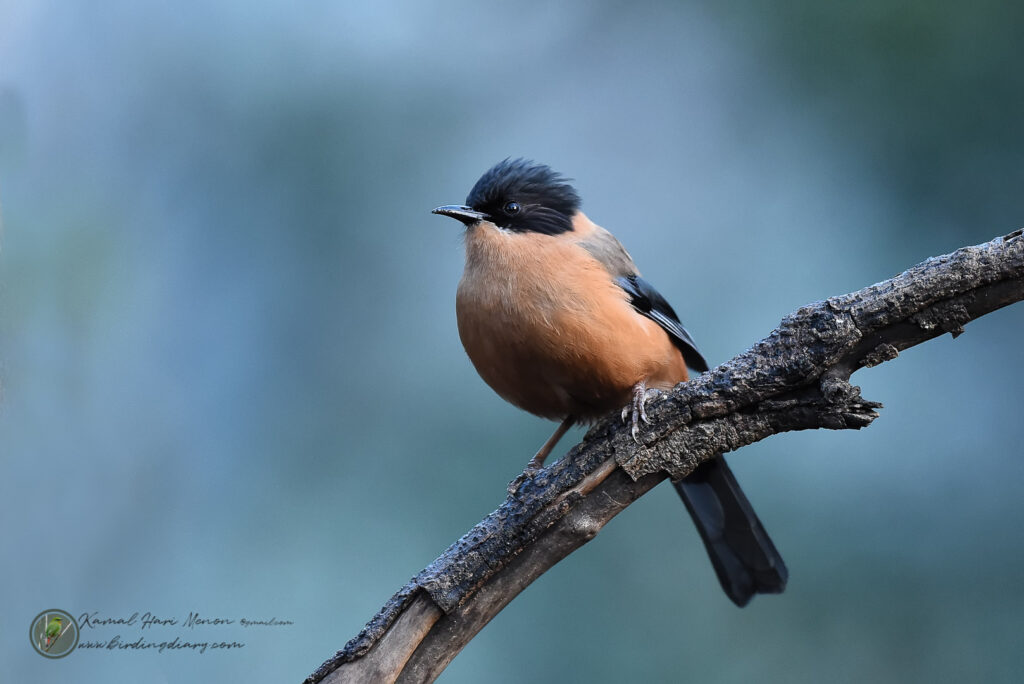
[[701, 463], [673, 482], [693, 516], [722, 589], [736, 605], [755, 594], [778, 594], [790, 571], [739, 488], [725, 459]]

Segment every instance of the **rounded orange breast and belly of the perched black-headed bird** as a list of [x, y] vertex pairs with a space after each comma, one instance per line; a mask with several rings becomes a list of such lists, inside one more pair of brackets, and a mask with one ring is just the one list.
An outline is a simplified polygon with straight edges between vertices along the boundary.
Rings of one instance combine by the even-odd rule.
[[572, 237], [471, 227], [456, 311], [466, 352], [502, 397], [587, 420], [625, 405], [641, 380], [667, 389], [687, 372], [668, 334]]

